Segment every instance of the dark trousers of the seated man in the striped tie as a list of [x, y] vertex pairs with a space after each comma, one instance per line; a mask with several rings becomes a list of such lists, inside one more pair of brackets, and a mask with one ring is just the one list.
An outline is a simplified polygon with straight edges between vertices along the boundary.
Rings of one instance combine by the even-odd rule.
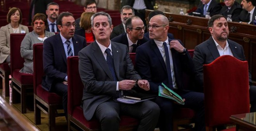
[[62, 105], [67, 119], [67, 85], [61, 82], [56, 83], [52, 92], [55, 92], [59, 96], [62, 96]]

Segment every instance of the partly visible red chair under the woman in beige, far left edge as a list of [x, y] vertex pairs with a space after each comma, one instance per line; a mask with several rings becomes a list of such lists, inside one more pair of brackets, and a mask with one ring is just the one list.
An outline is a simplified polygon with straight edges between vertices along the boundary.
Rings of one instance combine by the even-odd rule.
[[[0, 89], [3, 89], [3, 93], [2, 96], [3, 97], [8, 97], [10, 96], [10, 92], [9, 92], [9, 78], [10, 75], [10, 67], [8, 66], [8, 63], [2, 63], [0, 64]], [[4, 80], [4, 84], [5, 86], [3, 86], [3, 80]]]

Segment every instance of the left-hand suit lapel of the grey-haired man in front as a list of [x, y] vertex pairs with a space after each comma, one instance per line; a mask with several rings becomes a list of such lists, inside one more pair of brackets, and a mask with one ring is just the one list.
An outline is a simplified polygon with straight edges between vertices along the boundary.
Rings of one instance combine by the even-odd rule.
[[109, 68], [108, 68], [109, 66], [107, 64], [107, 61], [106, 61], [104, 55], [102, 54], [102, 52], [100, 50], [99, 45], [97, 44], [96, 41], [94, 41], [92, 44], [93, 44], [92, 45], [93, 46], [92, 50], [94, 50], [93, 55], [95, 57], [95, 60], [97, 60], [97, 62], [99, 63], [100, 67], [104, 70], [104, 72], [107, 74], [107, 76], [109, 78], [111, 78], [112, 80], [114, 80], [113, 77], [112, 77], [111, 72], [109, 71]]

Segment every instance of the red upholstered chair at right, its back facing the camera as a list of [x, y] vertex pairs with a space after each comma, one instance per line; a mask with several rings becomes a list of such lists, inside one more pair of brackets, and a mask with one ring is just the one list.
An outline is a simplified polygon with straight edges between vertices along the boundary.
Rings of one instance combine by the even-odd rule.
[[[230, 124], [230, 116], [249, 113], [248, 62], [230, 55], [204, 65], [206, 129]], [[235, 131], [235, 128], [229, 129]], [[215, 131], [215, 130], [214, 130]]]

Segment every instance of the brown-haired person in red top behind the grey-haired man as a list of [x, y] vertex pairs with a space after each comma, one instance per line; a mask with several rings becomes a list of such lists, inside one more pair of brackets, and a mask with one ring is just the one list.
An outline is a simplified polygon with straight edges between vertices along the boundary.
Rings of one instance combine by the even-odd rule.
[[95, 40], [95, 37], [91, 30], [91, 17], [93, 14], [94, 12], [83, 12], [80, 20], [81, 29], [75, 31], [75, 34], [85, 37], [86, 42], [92, 42]]

